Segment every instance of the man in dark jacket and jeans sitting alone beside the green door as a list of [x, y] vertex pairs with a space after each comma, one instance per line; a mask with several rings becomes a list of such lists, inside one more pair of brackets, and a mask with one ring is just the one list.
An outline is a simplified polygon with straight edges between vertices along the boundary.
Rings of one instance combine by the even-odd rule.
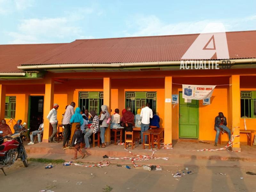
[[223, 131], [223, 132], [226, 131], [228, 133], [228, 137], [229, 137], [229, 140], [230, 140], [231, 134], [230, 134], [230, 130], [227, 127], [227, 119], [223, 115], [222, 112], [219, 112], [219, 115], [217, 117], [215, 117], [214, 128], [216, 130], [214, 146], [217, 146], [219, 135], [220, 135], [220, 131]]

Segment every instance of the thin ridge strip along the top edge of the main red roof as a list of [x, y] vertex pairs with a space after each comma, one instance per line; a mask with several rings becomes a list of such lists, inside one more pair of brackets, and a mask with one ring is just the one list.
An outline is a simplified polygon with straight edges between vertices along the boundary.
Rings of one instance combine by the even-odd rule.
[[[226, 31], [225, 33], [241, 33], [241, 32], [242, 33], [243, 32], [256, 32], [256, 30], [249, 30], [249, 31]], [[159, 36], [111, 37], [111, 38], [96, 38], [96, 39], [76, 39], [76, 41], [104, 40], [104, 39], [130, 39], [130, 38], [148, 38], [148, 37], [169, 37], [169, 36], [192, 36], [192, 35], [199, 35], [199, 34], [200, 33], [176, 34], [176, 35], [159, 35]], [[203, 34], [209, 34], [209, 33], [203, 33]]]

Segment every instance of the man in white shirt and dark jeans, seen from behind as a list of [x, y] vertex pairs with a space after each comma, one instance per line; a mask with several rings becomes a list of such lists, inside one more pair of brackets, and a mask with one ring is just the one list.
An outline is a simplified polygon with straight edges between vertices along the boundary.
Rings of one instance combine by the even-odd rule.
[[[153, 118], [153, 111], [149, 108], [149, 103], [146, 103], [146, 107], [141, 109], [140, 112], [141, 118], [141, 143], [143, 143], [143, 134], [149, 128], [150, 118]], [[147, 136], [145, 136], [145, 140], [147, 141]], [[140, 143], [140, 144], [141, 144]]]

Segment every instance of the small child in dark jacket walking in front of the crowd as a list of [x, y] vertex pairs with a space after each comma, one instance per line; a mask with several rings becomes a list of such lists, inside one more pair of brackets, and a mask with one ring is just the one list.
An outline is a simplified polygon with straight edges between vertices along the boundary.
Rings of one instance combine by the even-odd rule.
[[75, 146], [75, 157], [72, 159], [77, 159], [77, 151], [82, 155], [82, 159], [84, 158], [85, 154], [82, 152], [80, 148], [80, 143], [83, 142], [83, 133], [80, 128], [80, 124], [76, 125], [76, 132], [72, 138], [72, 146]]

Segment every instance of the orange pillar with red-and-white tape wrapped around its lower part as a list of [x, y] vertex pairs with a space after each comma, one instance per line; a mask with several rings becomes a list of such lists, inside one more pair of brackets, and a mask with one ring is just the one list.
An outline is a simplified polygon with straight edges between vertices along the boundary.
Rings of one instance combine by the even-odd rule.
[[[234, 135], [239, 135], [240, 132], [240, 76], [239, 75], [232, 75], [229, 78], [229, 114], [231, 114], [231, 133], [232, 133], [232, 127], [234, 129]], [[233, 143], [236, 143], [233, 145], [232, 150], [233, 151], [241, 151], [240, 148], [240, 137], [235, 137], [235, 140]]]

